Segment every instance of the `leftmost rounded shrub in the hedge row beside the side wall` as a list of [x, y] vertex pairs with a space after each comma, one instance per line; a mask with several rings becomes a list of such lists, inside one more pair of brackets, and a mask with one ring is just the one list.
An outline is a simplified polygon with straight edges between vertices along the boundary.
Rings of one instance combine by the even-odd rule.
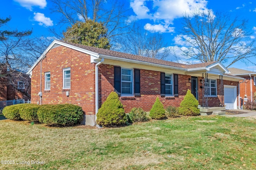
[[11, 120], [21, 120], [20, 118], [20, 109], [28, 107], [30, 104], [15, 104], [11, 106], [6, 106], [3, 109], [3, 115], [7, 119]]

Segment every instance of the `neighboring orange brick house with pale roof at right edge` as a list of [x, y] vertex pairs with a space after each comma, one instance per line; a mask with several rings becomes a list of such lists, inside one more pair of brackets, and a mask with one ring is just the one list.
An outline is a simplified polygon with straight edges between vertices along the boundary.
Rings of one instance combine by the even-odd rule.
[[240, 80], [240, 98], [244, 100], [254, 101], [254, 94], [256, 93], [256, 72], [242, 70], [239, 68], [228, 68], [230, 74], [240, 76], [245, 80]]

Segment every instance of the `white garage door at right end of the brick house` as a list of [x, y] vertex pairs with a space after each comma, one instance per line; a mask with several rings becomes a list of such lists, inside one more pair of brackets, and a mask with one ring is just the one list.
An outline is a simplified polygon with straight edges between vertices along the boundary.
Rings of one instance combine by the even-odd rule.
[[226, 109], [237, 109], [236, 86], [224, 86], [224, 104]]

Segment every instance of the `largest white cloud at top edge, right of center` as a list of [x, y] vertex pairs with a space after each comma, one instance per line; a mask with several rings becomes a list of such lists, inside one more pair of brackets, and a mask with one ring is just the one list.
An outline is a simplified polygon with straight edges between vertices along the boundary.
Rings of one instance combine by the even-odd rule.
[[206, 0], [131, 0], [130, 6], [136, 19], [153, 20], [154, 24], [146, 24], [148, 30], [155, 32], [174, 32], [173, 20], [182, 18], [196, 10], [208, 10]]

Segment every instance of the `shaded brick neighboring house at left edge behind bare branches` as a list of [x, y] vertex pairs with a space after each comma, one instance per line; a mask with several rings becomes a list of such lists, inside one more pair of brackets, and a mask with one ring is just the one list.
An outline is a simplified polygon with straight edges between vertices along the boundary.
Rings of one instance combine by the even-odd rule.
[[30, 100], [30, 76], [18, 69], [8, 71], [3, 64], [0, 67], [0, 101]]

